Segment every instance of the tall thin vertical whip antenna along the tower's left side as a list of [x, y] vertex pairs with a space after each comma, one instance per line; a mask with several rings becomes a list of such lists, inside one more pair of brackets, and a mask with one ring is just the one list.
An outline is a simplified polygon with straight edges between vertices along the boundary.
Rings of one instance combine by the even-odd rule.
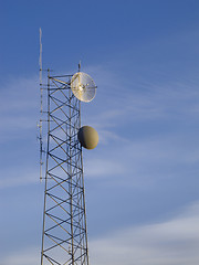
[[41, 109], [40, 109], [40, 182], [42, 182], [42, 166], [43, 166], [43, 140], [42, 140], [42, 114], [43, 114], [43, 87], [42, 87], [42, 30], [40, 28], [40, 99], [41, 99]]

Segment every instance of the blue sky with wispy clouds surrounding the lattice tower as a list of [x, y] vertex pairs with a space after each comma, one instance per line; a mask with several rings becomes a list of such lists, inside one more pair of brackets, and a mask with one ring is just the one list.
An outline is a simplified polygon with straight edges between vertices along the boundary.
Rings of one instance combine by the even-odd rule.
[[83, 124], [91, 264], [198, 265], [199, 2], [3, 1], [0, 265], [40, 264], [39, 28], [43, 66], [97, 84]]

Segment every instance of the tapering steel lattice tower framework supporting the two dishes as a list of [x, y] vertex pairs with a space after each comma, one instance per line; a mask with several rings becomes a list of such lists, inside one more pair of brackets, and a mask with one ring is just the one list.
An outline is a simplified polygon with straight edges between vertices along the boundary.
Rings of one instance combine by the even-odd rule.
[[88, 265], [81, 103], [72, 75], [48, 76], [48, 145], [41, 265]]

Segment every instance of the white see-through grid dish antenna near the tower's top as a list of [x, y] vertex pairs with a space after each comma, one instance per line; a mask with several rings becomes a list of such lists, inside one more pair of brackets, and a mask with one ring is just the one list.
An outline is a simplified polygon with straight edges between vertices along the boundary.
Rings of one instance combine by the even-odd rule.
[[96, 94], [96, 86], [88, 74], [78, 72], [71, 80], [71, 89], [81, 102], [91, 102]]

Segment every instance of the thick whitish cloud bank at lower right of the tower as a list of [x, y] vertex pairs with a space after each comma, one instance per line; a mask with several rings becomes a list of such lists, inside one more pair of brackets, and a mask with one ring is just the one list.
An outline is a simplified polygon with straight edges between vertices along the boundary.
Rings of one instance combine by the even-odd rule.
[[95, 265], [198, 265], [199, 203], [176, 219], [115, 231], [90, 242]]

